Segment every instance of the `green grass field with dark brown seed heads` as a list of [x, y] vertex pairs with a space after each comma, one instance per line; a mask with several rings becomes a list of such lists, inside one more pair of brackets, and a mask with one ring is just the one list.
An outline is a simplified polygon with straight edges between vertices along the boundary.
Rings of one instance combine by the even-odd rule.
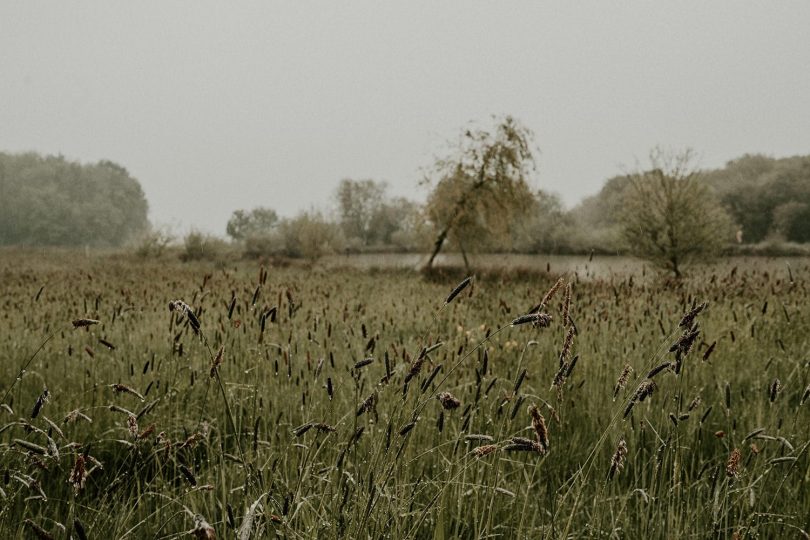
[[807, 538], [808, 260], [545, 270], [4, 251], [0, 537]]

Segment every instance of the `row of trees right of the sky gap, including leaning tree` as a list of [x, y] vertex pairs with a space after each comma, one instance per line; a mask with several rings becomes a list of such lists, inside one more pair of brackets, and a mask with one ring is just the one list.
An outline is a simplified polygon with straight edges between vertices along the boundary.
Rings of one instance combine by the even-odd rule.
[[491, 130], [466, 130], [436, 160], [422, 182], [425, 204], [389, 197], [383, 182], [344, 179], [331, 220], [305, 213], [309, 221], [294, 227], [266, 208], [238, 210], [227, 232], [253, 255], [294, 254], [290, 232], [320, 224], [328, 241], [313, 233], [304, 256], [419, 251], [430, 266], [449, 249], [469, 266], [470, 252], [599, 252], [638, 255], [675, 275], [724, 251], [810, 242], [810, 156], [745, 155], [703, 170], [690, 150], [655, 148], [648, 166], [566, 210], [557, 195], [531, 188], [533, 146], [533, 134], [506, 117]]

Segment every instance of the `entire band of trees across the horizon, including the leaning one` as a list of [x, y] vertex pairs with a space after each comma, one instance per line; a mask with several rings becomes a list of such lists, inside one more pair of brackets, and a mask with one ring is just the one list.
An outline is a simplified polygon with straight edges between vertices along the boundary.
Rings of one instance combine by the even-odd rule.
[[[747, 246], [810, 243], [810, 156], [744, 155], [702, 170], [690, 151], [654, 149], [649, 164], [609, 178], [572, 209], [532, 187], [534, 135], [512, 117], [466, 129], [421, 181], [424, 203], [389, 195], [374, 179], [341, 180], [327, 211], [281, 218], [259, 206], [233, 212], [224, 231], [247, 256], [315, 259], [327, 253], [629, 253], [679, 274], [707, 255]], [[138, 181], [110, 161], [0, 153], [0, 245], [121, 246], [162, 251]], [[191, 233], [187, 258], [221, 239]]]

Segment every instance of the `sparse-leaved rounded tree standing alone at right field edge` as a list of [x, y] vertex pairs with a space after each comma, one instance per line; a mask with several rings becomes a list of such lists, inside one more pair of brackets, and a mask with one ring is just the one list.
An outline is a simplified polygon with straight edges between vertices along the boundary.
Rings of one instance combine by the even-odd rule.
[[730, 220], [685, 151], [651, 153], [652, 169], [628, 175], [620, 215], [631, 253], [680, 277], [686, 265], [727, 243]]

